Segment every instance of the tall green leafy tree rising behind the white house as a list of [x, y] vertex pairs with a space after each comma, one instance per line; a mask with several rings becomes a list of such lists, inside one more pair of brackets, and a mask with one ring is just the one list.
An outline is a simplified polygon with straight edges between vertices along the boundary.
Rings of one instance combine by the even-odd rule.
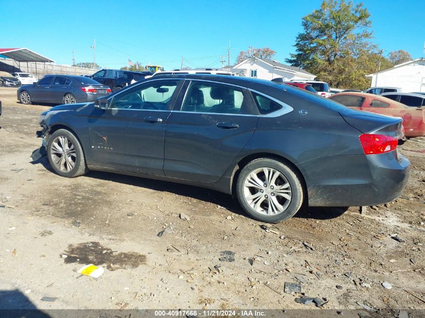
[[379, 56], [371, 42], [370, 14], [363, 4], [323, 0], [320, 9], [302, 19], [296, 53], [286, 60], [315, 74], [332, 87], [367, 88], [366, 74], [375, 71]]

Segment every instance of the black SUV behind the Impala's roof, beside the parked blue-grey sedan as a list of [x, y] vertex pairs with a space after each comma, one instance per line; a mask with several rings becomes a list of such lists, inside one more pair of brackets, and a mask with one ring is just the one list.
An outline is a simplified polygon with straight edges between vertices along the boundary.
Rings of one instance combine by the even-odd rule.
[[108, 85], [112, 91], [117, 91], [134, 82], [144, 79], [147, 75], [152, 74], [153, 73], [150, 71], [131, 72], [117, 69], [101, 69], [99, 72], [96, 72], [95, 74], [88, 77], [93, 78], [99, 83]]

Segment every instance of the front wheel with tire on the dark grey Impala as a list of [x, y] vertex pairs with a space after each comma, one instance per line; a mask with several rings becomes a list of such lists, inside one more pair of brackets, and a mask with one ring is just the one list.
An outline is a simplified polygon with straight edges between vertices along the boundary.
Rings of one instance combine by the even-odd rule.
[[89, 171], [78, 139], [66, 129], [58, 129], [50, 135], [47, 157], [50, 166], [62, 177], [78, 177]]

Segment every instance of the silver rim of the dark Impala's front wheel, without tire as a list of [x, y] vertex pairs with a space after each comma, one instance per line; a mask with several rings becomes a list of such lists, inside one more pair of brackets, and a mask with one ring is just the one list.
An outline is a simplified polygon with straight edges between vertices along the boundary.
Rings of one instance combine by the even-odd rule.
[[69, 172], [75, 167], [75, 148], [74, 145], [64, 136], [57, 136], [51, 146], [53, 164], [62, 172]]

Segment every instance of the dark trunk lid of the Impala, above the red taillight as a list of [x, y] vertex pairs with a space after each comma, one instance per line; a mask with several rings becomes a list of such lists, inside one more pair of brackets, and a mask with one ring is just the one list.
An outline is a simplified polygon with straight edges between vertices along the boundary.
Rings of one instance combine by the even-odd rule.
[[344, 120], [364, 134], [379, 134], [397, 139], [403, 137], [402, 119], [347, 109], [339, 112]]

